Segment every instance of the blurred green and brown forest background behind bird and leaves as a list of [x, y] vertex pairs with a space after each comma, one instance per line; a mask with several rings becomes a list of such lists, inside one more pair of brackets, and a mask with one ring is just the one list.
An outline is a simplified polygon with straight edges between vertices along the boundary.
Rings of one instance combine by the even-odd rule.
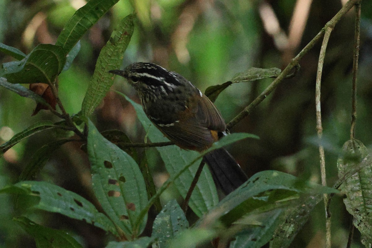
[[[59, 77], [62, 103], [70, 114], [81, 108], [87, 83], [97, 56], [113, 27], [135, 11], [138, 19], [124, 55], [123, 67], [136, 61], [151, 61], [184, 75], [202, 91], [228, 81], [250, 67], [284, 68], [341, 8], [342, 1], [323, 0], [120, 0], [81, 39], [81, 50], [73, 65]], [[0, 42], [28, 54], [37, 44], [54, 44], [67, 20], [85, 0], [1, 0]], [[357, 89], [356, 138], [372, 144], [372, 4], [362, 2], [362, 37]], [[328, 185], [337, 180], [336, 160], [349, 139], [351, 122], [351, 68], [354, 15], [349, 12], [331, 34], [323, 70], [323, 145], [326, 149]], [[287, 79], [231, 132], [260, 136], [229, 147], [231, 154], [249, 176], [275, 169], [320, 183], [315, 131], [315, 75], [320, 44], [300, 62], [301, 70]], [[0, 54], [1, 63], [12, 58]], [[113, 89], [138, 101], [133, 88], [115, 78]], [[247, 106], [272, 79], [234, 84], [217, 99], [216, 105], [230, 121]], [[0, 142], [38, 120], [57, 121], [48, 111], [31, 116], [36, 104], [0, 88]], [[92, 116], [100, 131], [124, 130], [133, 142], [142, 142], [140, 128], [131, 105], [113, 91]], [[15, 183], [32, 154], [49, 141], [64, 136], [51, 131], [34, 135], [14, 146], [0, 158], [0, 187]], [[156, 184], [167, 178], [154, 149], [139, 150], [149, 156]], [[51, 181], [81, 194], [97, 204], [90, 187], [90, 170], [80, 144], [67, 143], [55, 152], [37, 180]], [[175, 189], [162, 202], [179, 199]], [[34, 242], [12, 222], [10, 196], [0, 195], [0, 247], [34, 247]], [[332, 205], [333, 247], [344, 247], [350, 216], [342, 197]], [[192, 218], [192, 213], [189, 213]], [[29, 214], [43, 225], [68, 230], [85, 247], [103, 247], [112, 237], [86, 223], [64, 216], [34, 212]], [[355, 236], [358, 236], [355, 231]], [[357, 240], [357, 239], [356, 239]], [[320, 204], [297, 235], [291, 247], [323, 247], [324, 208]], [[353, 247], [361, 247], [355, 241]]]

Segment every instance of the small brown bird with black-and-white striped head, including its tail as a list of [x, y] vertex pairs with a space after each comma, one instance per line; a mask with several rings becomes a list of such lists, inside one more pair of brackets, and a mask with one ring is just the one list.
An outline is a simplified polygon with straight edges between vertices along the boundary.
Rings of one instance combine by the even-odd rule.
[[[221, 112], [182, 75], [149, 62], [136, 62], [109, 73], [126, 78], [137, 90], [148, 119], [180, 148], [203, 152], [227, 135]], [[226, 195], [248, 180], [225, 148], [207, 153], [203, 160]]]

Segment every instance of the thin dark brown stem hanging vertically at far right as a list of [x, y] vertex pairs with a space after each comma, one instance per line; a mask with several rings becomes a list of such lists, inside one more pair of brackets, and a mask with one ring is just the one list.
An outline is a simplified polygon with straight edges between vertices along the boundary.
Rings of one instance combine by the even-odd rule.
[[354, 55], [353, 55], [353, 86], [352, 86], [352, 113], [350, 139], [355, 137], [356, 125], [356, 79], [358, 72], [359, 45], [360, 45], [360, 3], [355, 4], [355, 32], [354, 32]]

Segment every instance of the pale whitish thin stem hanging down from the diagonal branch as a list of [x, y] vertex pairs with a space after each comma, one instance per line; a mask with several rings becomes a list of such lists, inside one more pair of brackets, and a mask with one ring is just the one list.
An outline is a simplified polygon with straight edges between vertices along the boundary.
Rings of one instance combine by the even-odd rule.
[[[331, 35], [332, 28], [327, 27], [325, 28], [323, 43], [320, 48], [319, 60], [318, 60], [318, 70], [317, 70], [317, 79], [315, 83], [315, 109], [316, 109], [316, 119], [317, 119], [317, 133], [319, 139], [319, 157], [320, 157], [320, 173], [321, 173], [321, 180], [322, 185], [327, 186], [327, 180], [325, 176], [325, 158], [324, 158], [324, 148], [321, 145], [321, 139], [323, 136], [323, 127], [322, 127], [322, 118], [321, 118], [321, 107], [320, 107], [320, 86], [321, 86], [321, 78], [322, 78], [322, 71], [323, 71], [323, 64], [324, 64], [324, 57], [325, 57], [325, 50], [327, 49], [327, 44], [329, 37]], [[329, 211], [327, 211], [327, 202], [328, 202], [328, 195], [324, 194], [324, 207], [325, 207], [325, 247], [331, 248], [331, 216]]]

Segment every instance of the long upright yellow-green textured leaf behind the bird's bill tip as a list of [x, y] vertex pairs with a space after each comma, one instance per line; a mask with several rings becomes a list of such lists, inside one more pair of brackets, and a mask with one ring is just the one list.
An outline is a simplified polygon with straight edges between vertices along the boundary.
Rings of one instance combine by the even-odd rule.
[[118, 69], [122, 64], [123, 54], [133, 34], [134, 17], [133, 14], [126, 16], [102, 48], [81, 106], [81, 113], [84, 116], [89, 116], [96, 109], [112, 86], [113, 74], [108, 71]]

